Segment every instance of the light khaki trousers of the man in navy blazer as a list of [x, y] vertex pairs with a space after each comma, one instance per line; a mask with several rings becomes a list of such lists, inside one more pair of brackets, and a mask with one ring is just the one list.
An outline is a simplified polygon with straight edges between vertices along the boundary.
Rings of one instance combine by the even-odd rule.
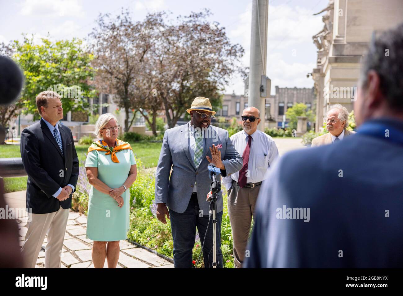
[[61, 206], [57, 212], [32, 214], [31, 222], [27, 223], [28, 231], [21, 249], [26, 268], [35, 268], [46, 233], [48, 243], [45, 248], [45, 267], [60, 268], [60, 254], [68, 218], [69, 209], [64, 210]]

